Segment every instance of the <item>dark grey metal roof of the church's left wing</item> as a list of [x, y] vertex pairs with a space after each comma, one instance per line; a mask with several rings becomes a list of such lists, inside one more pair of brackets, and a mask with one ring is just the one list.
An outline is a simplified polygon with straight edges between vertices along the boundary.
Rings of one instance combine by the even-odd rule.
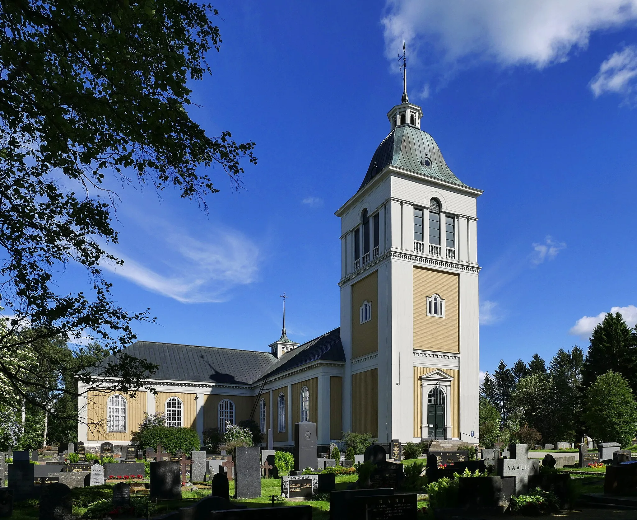
[[[133, 343], [123, 352], [159, 365], [150, 379], [222, 384], [251, 384], [276, 361], [269, 352], [144, 341]], [[112, 359], [106, 357], [101, 363]]]

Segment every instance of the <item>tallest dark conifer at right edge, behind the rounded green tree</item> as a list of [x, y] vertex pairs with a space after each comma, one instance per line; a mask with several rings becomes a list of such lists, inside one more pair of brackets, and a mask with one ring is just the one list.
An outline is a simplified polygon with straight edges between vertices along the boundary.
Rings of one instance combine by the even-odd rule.
[[606, 314], [590, 336], [589, 352], [582, 366], [583, 386], [588, 388], [596, 378], [609, 370], [622, 374], [637, 391], [635, 340], [631, 329], [619, 312]]

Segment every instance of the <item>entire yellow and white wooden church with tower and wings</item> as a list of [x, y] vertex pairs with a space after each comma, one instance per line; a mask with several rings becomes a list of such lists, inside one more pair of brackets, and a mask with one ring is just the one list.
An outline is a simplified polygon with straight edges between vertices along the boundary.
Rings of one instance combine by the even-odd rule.
[[169, 426], [200, 437], [254, 419], [262, 432], [273, 430], [275, 447], [293, 444], [299, 421], [317, 423], [322, 446], [343, 431], [371, 433], [382, 444], [478, 444], [482, 191], [448, 168], [421, 129], [422, 109], [410, 103], [404, 74], [403, 82], [401, 104], [387, 113], [389, 134], [336, 212], [340, 327], [299, 345], [287, 337], [284, 311], [269, 352], [138, 341], [124, 352], [159, 366], [145, 380], [157, 393], [80, 397], [78, 440], [129, 444], [145, 413], [164, 412]]

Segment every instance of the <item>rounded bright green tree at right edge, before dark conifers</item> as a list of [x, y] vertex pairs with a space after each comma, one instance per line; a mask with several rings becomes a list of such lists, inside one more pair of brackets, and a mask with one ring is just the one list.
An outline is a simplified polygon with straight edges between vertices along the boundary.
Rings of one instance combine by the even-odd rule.
[[629, 445], [637, 429], [637, 403], [621, 374], [609, 370], [589, 386], [584, 420], [589, 435], [597, 442]]

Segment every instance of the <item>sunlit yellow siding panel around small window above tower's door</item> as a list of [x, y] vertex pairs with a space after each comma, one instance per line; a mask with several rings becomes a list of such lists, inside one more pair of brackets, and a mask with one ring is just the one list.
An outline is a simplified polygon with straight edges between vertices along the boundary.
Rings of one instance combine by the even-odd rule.
[[[413, 268], [413, 348], [459, 352], [458, 275]], [[445, 300], [445, 317], [427, 316], [427, 296]]]

